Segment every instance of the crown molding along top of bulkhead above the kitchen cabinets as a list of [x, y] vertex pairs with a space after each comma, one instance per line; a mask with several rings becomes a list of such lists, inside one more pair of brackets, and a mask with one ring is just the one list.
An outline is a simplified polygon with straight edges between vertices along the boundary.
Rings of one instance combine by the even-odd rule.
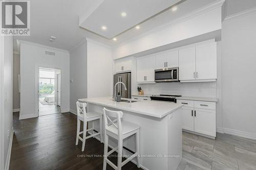
[[172, 20], [172, 21], [170, 21], [170, 22], [167, 22], [167, 23], [165, 23], [164, 25], [161, 25], [161, 26], [159, 26], [159, 27], [157, 27], [157, 28], [155, 28], [155, 29], [153, 29], [153, 30], [151, 30], [151, 31], [148, 31], [148, 32], [146, 32], [146, 33], [144, 33], [144, 34], [141, 34], [141, 35], [139, 35], [139, 36], [130, 38], [130, 39], [128, 39], [128, 40], [126, 40], [126, 41], [124, 41], [124, 42], [118, 43], [118, 44], [116, 44], [116, 45], [113, 45], [113, 48], [116, 48], [116, 47], [121, 46], [121, 45], [123, 45], [123, 44], [125, 44], [125, 43], [128, 43], [128, 42], [132, 42], [132, 41], [141, 39], [141, 38], [143, 38], [143, 37], [146, 37], [146, 36], [149, 35], [149, 34], [153, 34], [153, 33], [158, 32], [158, 31], [160, 31], [160, 30], [164, 30], [165, 28], [172, 27], [172, 26], [174, 26], [174, 25], [177, 25], [177, 24], [180, 23], [180, 22], [184, 22], [184, 21], [186, 21], [186, 20], [188, 20], [188, 19], [194, 18], [194, 17], [196, 17], [196, 16], [198, 16], [198, 15], [201, 15], [201, 14], [203, 14], [203, 13], [212, 11], [212, 10], [214, 10], [214, 9], [216, 9], [216, 8], [221, 7], [224, 2], [225, 2], [225, 0], [218, 0], [218, 1], [214, 2], [214, 3], [211, 3], [211, 4], [208, 4], [208, 5], [206, 5], [206, 6], [203, 6], [202, 8], [199, 8], [199, 9], [194, 10], [194, 11], [188, 13], [188, 14], [185, 14], [185, 15], [183, 15], [183, 16], [177, 18], [177, 19], [174, 19], [174, 20]]

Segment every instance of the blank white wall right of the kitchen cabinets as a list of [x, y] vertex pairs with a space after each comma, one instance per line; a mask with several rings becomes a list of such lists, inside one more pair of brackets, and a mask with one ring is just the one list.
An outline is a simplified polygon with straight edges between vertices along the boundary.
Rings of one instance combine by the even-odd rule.
[[256, 139], [256, 14], [222, 24], [224, 132]]

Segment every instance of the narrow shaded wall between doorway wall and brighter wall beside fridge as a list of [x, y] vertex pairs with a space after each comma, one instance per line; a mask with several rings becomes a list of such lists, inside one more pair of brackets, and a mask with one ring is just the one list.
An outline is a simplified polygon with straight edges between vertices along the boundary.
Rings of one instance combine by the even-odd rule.
[[70, 52], [70, 110], [76, 112], [78, 99], [87, 98], [87, 41]]

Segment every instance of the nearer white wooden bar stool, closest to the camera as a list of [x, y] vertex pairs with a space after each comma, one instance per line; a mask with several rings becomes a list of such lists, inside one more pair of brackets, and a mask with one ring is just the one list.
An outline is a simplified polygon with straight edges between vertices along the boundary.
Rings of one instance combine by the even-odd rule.
[[[106, 108], [103, 109], [103, 118], [105, 123], [103, 170], [106, 169], [106, 163], [111, 165], [114, 169], [120, 170], [123, 165], [125, 165], [136, 156], [138, 162], [137, 166], [140, 167], [140, 157], [138, 156], [140, 153], [140, 126], [130, 122], [121, 121], [122, 116], [123, 112], [121, 111], [111, 111]], [[122, 162], [123, 139], [133, 134], [136, 134], [136, 153], [134, 153], [131, 157], [127, 158], [125, 161]], [[118, 140], [118, 147], [114, 148], [110, 152], [108, 152], [109, 136]], [[108, 159], [108, 156], [117, 150], [118, 160], [116, 166]]]

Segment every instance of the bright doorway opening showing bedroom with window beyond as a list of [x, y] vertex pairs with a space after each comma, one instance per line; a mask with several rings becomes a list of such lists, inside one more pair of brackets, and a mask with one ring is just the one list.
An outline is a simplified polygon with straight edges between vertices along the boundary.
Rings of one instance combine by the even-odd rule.
[[61, 70], [38, 67], [39, 116], [61, 112]]

